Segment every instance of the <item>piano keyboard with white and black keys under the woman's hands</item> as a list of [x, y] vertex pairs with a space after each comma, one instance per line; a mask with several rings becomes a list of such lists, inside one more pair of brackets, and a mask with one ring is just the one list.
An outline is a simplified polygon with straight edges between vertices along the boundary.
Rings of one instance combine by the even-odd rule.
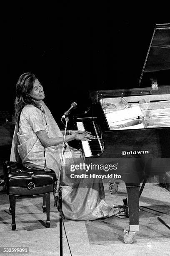
[[[82, 119], [81, 119], [82, 120]], [[101, 138], [101, 130], [97, 125], [95, 120], [91, 118], [85, 118], [85, 120], [79, 121], [77, 119], [77, 129], [78, 131], [88, 131], [91, 132], [93, 136], [97, 139], [92, 141], [81, 141], [82, 142], [82, 150], [85, 154], [85, 157], [97, 157], [102, 154], [104, 150], [104, 142]]]

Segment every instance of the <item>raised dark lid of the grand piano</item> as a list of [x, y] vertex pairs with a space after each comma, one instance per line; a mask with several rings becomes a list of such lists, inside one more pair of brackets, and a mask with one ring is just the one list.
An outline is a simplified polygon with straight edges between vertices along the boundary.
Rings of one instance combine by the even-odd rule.
[[170, 85], [170, 23], [156, 24], [139, 86]]

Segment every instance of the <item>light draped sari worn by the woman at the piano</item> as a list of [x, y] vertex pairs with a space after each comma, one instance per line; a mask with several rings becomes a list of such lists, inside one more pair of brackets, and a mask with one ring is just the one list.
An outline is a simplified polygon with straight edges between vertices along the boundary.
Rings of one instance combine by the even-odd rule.
[[[49, 138], [63, 137], [57, 123], [45, 103], [41, 101], [43, 112], [33, 105], [23, 108], [19, 127], [16, 124], [11, 148], [10, 161], [23, 162], [28, 168], [53, 170], [58, 177], [62, 145], [44, 148], [36, 132], [45, 130]], [[67, 144], [67, 143], [66, 143]], [[102, 180], [70, 179], [67, 169], [71, 164], [83, 161], [81, 151], [67, 144], [62, 164], [62, 211], [66, 219], [95, 220], [115, 214], [115, 210], [105, 203]]]

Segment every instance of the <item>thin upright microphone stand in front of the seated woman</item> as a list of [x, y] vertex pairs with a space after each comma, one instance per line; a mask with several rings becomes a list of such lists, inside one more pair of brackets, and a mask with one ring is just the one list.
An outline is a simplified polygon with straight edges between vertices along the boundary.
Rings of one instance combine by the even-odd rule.
[[[61, 153], [61, 159], [60, 159], [60, 169], [59, 169], [59, 175], [58, 175], [58, 180], [55, 182], [56, 187], [54, 188], [54, 206], [58, 207], [58, 212], [60, 216], [60, 256], [62, 256], [62, 187], [60, 185], [61, 182], [61, 169], [62, 169], [62, 161], [63, 161], [63, 156], [65, 153], [65, 149], [67, 145], [65, 144], [65, 137], [67, 133], [67, 123], [69, 121], [68, 114], [65, 114], [65, 132], [64, 132], [64, 138], [63, 138], [63, 143], [62, 143], [62, 153]], [[62, 121], [62, 119], [61, 119]], [[62, 121], [63, 123], [63, 121]]]

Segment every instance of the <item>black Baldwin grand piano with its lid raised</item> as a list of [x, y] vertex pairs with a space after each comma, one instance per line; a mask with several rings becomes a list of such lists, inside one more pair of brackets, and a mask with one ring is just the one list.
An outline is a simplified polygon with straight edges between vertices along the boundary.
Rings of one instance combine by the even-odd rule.
[[78, 130], [97, 137], [82, 141], [85, 160], [117, 165], [110, 173], [121, 175], [126, 184], [124, 241], [132, 243], [145, 182], [170, 170], [170, 24], [155, 26], [136, 88], [90, 92], [90, 99], [90, 115], [76, 121]]

